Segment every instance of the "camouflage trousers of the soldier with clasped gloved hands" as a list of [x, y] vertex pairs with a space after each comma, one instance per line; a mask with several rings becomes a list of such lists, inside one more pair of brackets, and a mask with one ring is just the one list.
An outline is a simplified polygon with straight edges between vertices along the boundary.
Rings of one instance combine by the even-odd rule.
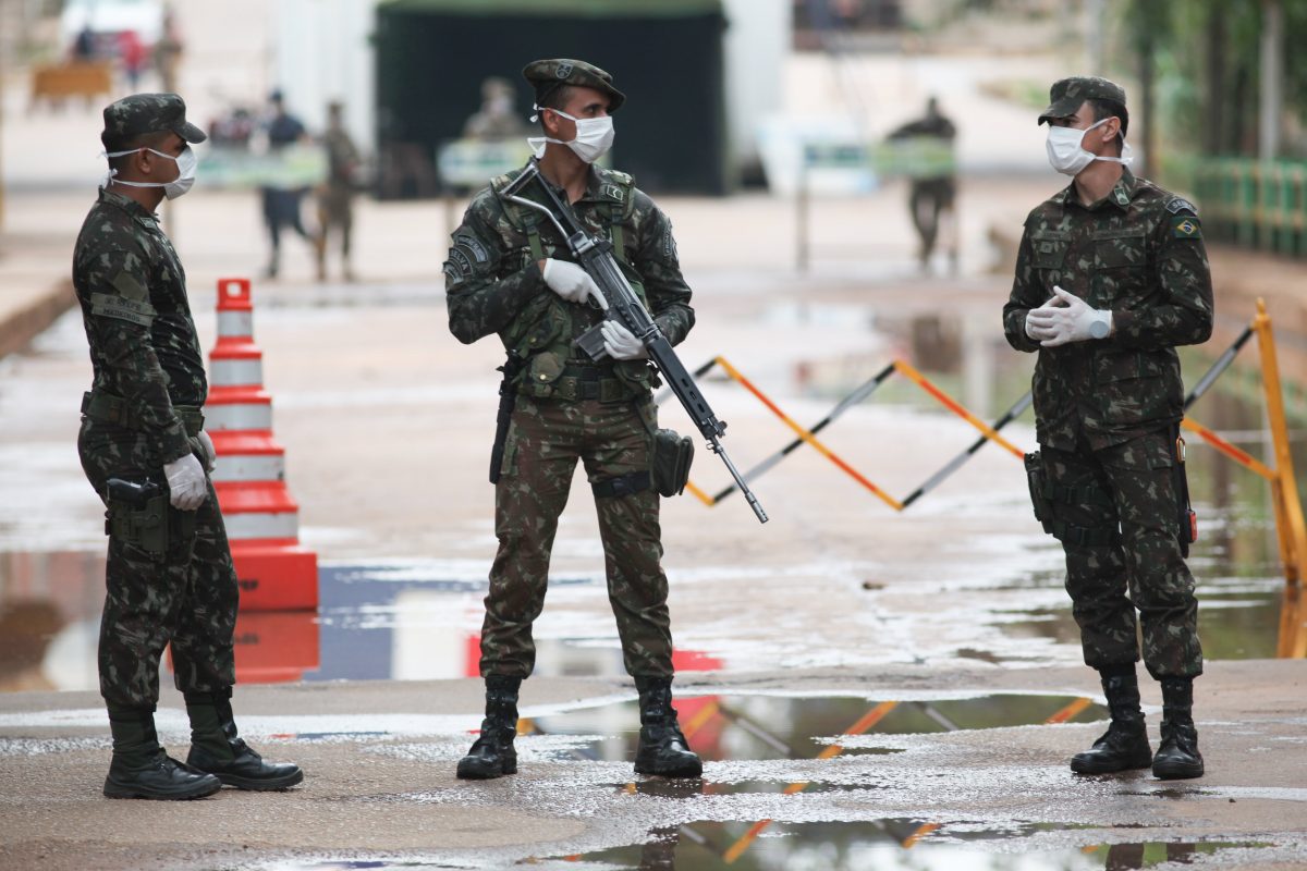
[[1051, 484], [1102, 495], [1055, 503], [1059, 520], [1084, 529], [1120, 522], [1110, 545], [1063, 542], [1085, 665], [1137, 662], [1140, 623], [1149, 674], [1159, 680], [1202, 674], [1193, 575], [1178, 541], [1172, 436], [1159, 431], [1094, 452], [1040, 447], [1039, 454]]

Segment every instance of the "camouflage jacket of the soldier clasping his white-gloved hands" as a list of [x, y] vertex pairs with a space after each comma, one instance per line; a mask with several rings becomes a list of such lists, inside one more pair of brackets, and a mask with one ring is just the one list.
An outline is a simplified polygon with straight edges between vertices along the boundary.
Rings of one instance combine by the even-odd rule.
[[[1026, 336], [1026, 312], [1059, 285], [1112, 311], [1104, 340], [1042, 349]], [[1127, 441], [1178, 422], [1184, 387], [1176, 345], [1212, 334], [1212, 274], [1191, 202], [1129, 170], [1103, 200], [1081, 205], [1074, 184], [1026, 218], [1012, 295], [1002, 309], [1008, 342], [1039, 351], [1039, 444], [1074, 451]]]

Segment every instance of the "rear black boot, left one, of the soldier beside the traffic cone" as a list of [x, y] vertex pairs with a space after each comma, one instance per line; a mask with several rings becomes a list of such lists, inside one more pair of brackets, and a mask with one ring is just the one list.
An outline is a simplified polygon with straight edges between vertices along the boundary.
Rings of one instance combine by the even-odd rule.
[[108, 798], [175, 800], [222, 789], [217, 777], [176, 761], [159, 747], [154, 712], [110, 706], [108, 729], [114, 735], [114, 760], [105, 778]]

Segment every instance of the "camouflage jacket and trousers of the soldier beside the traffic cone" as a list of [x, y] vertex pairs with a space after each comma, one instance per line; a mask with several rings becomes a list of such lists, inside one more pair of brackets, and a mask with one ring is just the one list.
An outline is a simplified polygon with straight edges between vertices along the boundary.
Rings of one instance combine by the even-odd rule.
[[[77, 236], [73, 286], [94, 372], [77, 440], [86, 478], [106, 504], [108, 478], [166, 491], [165, 464], [205, 461], [196, 435], [208, 383], [176, 252], [152, 213], [102, 189]], [[212, 483], [199, 511], [167, 513], [163, 554], [108, 539], [99, 680], [111, 705], [154, 709], [167, 644], [178, 689], [235, 683], [237, 576]]]

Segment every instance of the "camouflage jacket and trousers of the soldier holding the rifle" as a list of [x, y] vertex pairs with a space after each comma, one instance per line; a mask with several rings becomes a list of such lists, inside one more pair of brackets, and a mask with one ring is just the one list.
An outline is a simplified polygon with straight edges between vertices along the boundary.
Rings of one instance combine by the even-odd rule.
[[[473, 198], [454, 232], [444, 276], [454, 334], [473, 342], [498, 333], [524, 360], [495, 484], [499, 550], [485, 599], [481, 674], [525, 678], [535, 665], [531, 626], [544, 605], [558, 515], [576, 461], [601, 490], [605, 482], [647, 470], [655, 409], [646, 360], [596, 364], [571, 346], [601, 312], [563, 302], [545, 285], [537, 261], [572, 257], [557, 229], [499, 197], [516, 175], [497, 179]], [[557, 193], [566, 201], [561, 189]], [[694, 312], [667, 215], [629, 175], [599, 167], [592, 167], [586, 195], [572, 209], [591, 234], [613, 239], [614, 253], [668, 341], [684, 340]], [[596, 492], [595, 504], [626, 670], [670, 678], [659, 495], [650, 488]]]

